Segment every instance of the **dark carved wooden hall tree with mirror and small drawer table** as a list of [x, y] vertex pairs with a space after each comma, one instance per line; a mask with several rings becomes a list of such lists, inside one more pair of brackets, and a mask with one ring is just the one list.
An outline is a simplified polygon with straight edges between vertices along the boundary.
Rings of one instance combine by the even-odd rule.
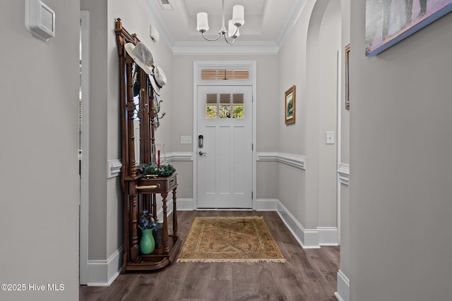
[[[138, 44], [135, 34], [130, 35], [116, 21], [119, 54], [119, 90], [121, 110], [122, 170], [121, 184], [124, 192], [124, 262], [122, 271], [161, 269], [172, 264], [182, 245], [177, 235], [177, 173], [172, 176], [151, 178], [139, 172], [150, 162], [155, 162], [155, 103], [153, 87], [148, 74], [127, 54], [125, 45]], [[135, 137], [139, 135], [139, 137]], [[172, 235], [168, 234], [167, 195], [172, 191]], [[154, 252], [141, 254], [138, 219], [148, 210], [157, 222], [157, 197], [162, 196], [161, 235]]]

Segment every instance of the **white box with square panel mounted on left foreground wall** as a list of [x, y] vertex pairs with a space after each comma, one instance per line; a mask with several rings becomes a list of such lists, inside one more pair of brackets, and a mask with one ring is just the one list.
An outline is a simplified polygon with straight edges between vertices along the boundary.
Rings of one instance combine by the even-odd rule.
[[55, 12], [40, 0], [25, 0], [25, 27], [33, 35], [48, 41], [55, 36]]

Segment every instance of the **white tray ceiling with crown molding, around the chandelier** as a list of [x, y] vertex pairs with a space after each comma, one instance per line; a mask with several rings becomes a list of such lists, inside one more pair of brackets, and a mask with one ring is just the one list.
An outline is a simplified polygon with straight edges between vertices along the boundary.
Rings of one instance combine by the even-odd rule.
[[[281, 41], [299, 16], [306, 0], [224, 0], [225, 23], [232, 18], [232, 6], [244, 6], [245, 23], [240, 27], [240, 37], [234, 46], [222, 37], [218, 42], [207, 42], [196, 30], [196, 14], [208, 13], [210, 30], [206, 36], [213, 38], [221, 28], [222, 0], [140, 0], [148, 13], [150, 23], [165, 39], [174, 52], [208, 53], [248, 49], [248, 51], [278, 51]], [[237, 47], [238, 46], [238, 47]], [[251, 49], [251, 48], [252, 49]], [[191, 50], [190, 50], [191, 49]], [[221, 50], [222, 49], [222, 50]], [[254, 50], [253, 50], [254, 49]]]

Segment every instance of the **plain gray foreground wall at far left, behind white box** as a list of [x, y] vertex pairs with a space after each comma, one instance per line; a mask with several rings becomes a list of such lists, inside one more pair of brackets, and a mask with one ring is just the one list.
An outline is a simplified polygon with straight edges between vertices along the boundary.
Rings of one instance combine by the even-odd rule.
[[25, 1], [0, 9], [0, 282], [26, 284], [1, 300], [78, 300], [80, 2], [45, 3], [56, 13], [49, 42], [25, 29]]

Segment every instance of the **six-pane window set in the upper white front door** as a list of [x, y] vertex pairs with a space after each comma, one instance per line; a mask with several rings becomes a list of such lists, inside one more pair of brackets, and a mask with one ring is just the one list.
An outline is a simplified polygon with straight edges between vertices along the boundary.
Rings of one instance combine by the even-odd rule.
[[206, 118], [244, 118], [244, 94], [206, 94]]

